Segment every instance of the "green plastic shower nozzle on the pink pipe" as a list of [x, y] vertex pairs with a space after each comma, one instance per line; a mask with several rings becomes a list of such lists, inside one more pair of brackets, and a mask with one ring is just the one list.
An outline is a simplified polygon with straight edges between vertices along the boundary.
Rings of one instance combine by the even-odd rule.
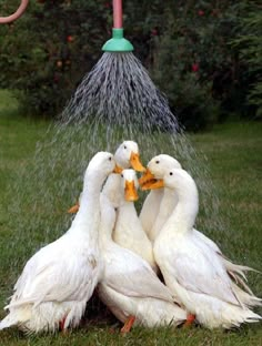
[[113, 28], [112, 39], [108, 40], [103, 47], [104, 52], [131, 52], [133, 51], [133, 44], [124, 39], [122, 28]]

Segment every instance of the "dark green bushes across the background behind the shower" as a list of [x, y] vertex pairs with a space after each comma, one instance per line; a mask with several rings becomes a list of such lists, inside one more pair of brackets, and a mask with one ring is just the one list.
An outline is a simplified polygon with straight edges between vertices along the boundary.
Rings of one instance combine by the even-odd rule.
[[[10, 14], [16, 0], [0, 0]], [[125, 35], [189, 130], [229, 114], [262, 118], [262, 13], [256, 1], [123, 1]], [[32, 0], [0, 27], [0, 88], [27, 112], [58, 114], [111, 37], [105, 0]]]

